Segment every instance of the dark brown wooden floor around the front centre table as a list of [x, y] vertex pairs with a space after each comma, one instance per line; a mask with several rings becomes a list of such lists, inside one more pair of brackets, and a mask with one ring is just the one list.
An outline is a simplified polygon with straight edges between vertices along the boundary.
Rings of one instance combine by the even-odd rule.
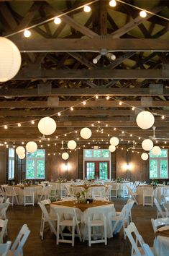
[[[116, 210], [121, 210], [126, 200], [114, 199], [114, 205]], [[140, 234], [145, 239], [145, 242], [152, 246], [153, 243], [153, 231], [151, 225], [151, 218], [156, 217], [156, 208], [151, 206], [134, 205], [132, 208], [132, 219]], [[108, 245], [104, 244], [92, 244], [88, 247], [88, 242], [79, 242], [78, 238], [75, 243], [75, 247], [71, 244], [59, 244], [56, 245], [55, 235], [50, 231], [45, 232], [44, 239], [40, 239], [40, 219], [41, 210], [38, 205], [33, 207], [32, 205], [24, 206], [10, 206], [7, 218], [9, 219], [9, 235], [8, 240], [14, 241], [15, 236], [21, 226], [27, 223], [31, 231], [27, 243], [24, 246], [24, 256], [37, 255], [62, 255], [62, 256], [121, 256], [131, 255], [131, 247], [128, 239], [125, 241], [122, 231], [111, 239], [108, 239]]]

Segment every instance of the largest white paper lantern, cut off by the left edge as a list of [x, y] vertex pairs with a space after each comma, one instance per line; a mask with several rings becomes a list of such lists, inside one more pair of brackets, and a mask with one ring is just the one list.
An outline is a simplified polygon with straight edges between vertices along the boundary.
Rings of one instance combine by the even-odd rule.
[[21, 67], [21, 54], [15, 44], [0, 37], [0, 82], [11, 80]]

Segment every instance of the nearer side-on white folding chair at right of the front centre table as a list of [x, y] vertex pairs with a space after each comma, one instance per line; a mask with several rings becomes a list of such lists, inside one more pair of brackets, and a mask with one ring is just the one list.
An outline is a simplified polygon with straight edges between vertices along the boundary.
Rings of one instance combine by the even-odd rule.
[[122, 228], [124, 233], [124, 239], [126, 239], [126, 234], [124, 232], [125, 222], [127, 221], [127, 205], [124, 205], [119, 216], [115, 216], [111, 219], [112, 221], [112, 235], [117, 234]]

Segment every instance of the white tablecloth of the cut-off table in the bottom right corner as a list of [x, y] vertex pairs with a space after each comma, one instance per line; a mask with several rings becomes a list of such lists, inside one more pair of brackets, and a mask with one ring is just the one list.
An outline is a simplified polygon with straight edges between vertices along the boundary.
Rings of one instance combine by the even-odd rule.
[[169, 237], [156, 236], [154, 240], [154, 253], [155, 256], [168, 256], [169, 255]]

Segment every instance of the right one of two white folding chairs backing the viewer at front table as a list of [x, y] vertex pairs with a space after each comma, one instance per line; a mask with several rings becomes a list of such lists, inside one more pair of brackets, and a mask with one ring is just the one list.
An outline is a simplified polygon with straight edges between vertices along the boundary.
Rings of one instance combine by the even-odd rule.
[[[85, 229], [88, 227], [88, 246], [91, 247], [91, 244], [104, 243], [107, 244], [107, 232], [106, 232], [106, 216], [104, 216], [103, 210], [101, 208], [93, 209], [88, 208], [88, 222], [86, 223]], [[103, 228], [103, 232], [96, 233], [93, 232], [92, 228]], [[94, 239], [92, 240], [92, 236]], [[100, 237], [101, 239], [95, 239], [96, 237]], [[83, 236], [83, 242], [85, 240], [85, 236]]]

